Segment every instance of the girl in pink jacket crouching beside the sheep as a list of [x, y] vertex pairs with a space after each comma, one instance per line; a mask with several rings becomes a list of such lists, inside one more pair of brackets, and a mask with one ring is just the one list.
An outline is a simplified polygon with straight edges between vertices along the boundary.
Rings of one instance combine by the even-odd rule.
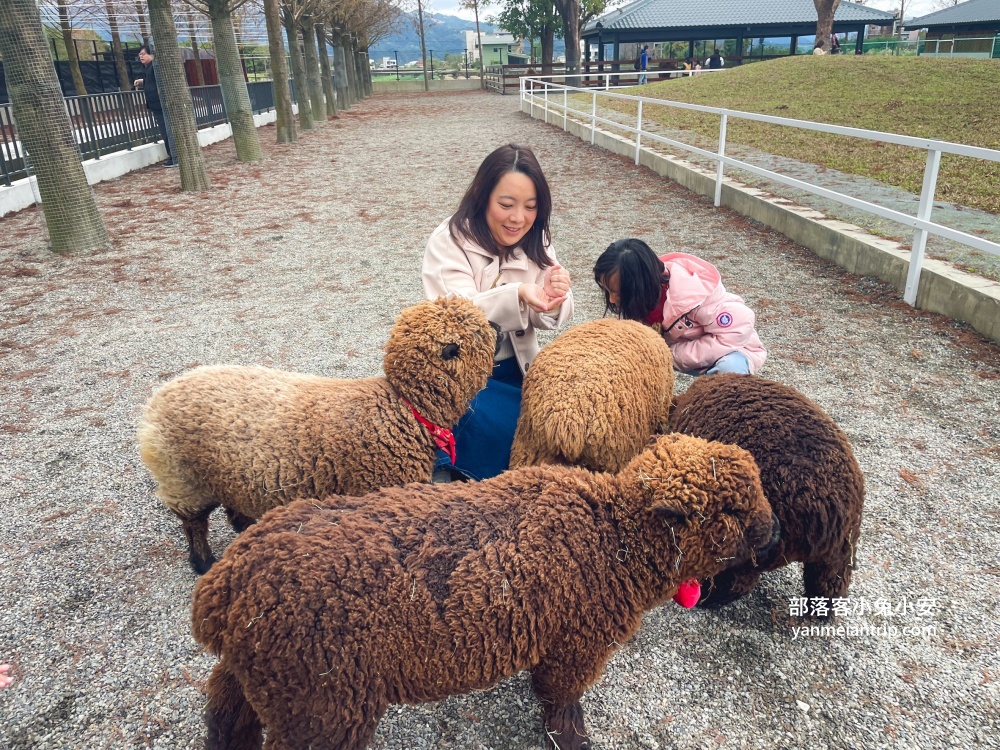
[[594, 280], [604, 290], [605, 314], [658, 328], [680, 372], [752, 375], [767, 358], [753, 310], [701, 258], [657, 257], [642, 240], [619, 240], [597, 259]]

